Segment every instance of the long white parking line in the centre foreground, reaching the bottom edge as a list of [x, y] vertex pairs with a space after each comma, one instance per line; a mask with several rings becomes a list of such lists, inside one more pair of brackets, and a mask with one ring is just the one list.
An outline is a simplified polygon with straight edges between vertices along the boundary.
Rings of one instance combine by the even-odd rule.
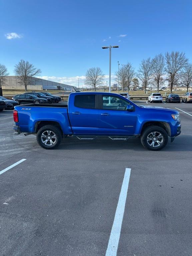
[[121, 224], [123, 220], [123, 214], [125, 210], [125, 202], [127, 198], [127, 190], [129, 186], [130, 173], [131, 173], [131, 169], [126, 168], [105, 256], [117, 255], [117, 248], [118, 248], [119, 237], [121, 233]]

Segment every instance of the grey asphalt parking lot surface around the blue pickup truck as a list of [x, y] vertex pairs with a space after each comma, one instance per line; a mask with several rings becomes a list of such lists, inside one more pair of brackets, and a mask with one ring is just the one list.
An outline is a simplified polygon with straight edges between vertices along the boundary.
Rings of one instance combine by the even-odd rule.
[[44, 150], [0, 113], [0, 255], [192, 255], [192, 104], [137, 104], [177, 109], [181, 134], [157, 152], [73, 137]]

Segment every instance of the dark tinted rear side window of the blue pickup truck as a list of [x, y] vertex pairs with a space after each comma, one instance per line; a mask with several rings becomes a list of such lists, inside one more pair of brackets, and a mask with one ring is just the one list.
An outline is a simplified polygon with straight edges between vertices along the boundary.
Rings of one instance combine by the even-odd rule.
[[96, 95], [84, 94], [76, 95], [74, 105], [78, 108], [95, 108]]

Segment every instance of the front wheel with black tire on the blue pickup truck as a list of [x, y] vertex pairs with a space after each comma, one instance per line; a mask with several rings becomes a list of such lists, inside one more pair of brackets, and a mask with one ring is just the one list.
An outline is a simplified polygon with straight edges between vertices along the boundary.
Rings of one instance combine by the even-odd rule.
[[[151, 137], [150, 134], [154, 133], [154, 137]], [[161, 134], [162, 137], [160, 137], [158, 139], [158, 142], [157, 142], [157, 137], [160, 136], [158, 134]], [[147, 138], [151, 138], [151, 140], [147, 140]], [[156, 141], [153, 141], [153, 138], [156, 139]], [[149, 142], [149, 143], [148, 143]], [[161, 142], [161, 144], [158, 146], [158, 144]], [[167, 142], [168, 142], [168, 134], [167, 132], [160, 126], [150, 126], [150, 127], [147, 127], [142, 135], [141, 135], [141, 144], [143, 145], [144, 148], [148, 149], [148, 150], [153, 150], [153, 151], [157, 151], [157, 150], [161, 150], [163, 149], [166, 145], [167, 145]], [[151, 146], [149, 144], [152, 144], [155, 145], [155, 146]]]

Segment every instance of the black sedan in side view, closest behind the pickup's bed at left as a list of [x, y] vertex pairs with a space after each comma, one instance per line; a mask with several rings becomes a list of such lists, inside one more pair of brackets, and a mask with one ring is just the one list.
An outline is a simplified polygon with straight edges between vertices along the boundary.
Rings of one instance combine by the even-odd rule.
[[12, 100], [15, 100], [19, 105], [26, 104], [26, 103], [27, 104], [48, 103], [47, 99], [38, 98], [37, 96], [31, 95], [31, 94], [17, 94], [12, 98]]

